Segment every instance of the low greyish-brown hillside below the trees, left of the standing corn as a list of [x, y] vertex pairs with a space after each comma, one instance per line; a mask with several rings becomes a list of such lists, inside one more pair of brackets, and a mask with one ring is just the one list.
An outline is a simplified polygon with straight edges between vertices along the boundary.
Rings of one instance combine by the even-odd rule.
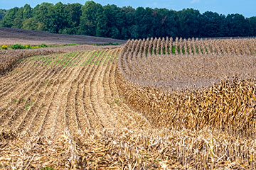
[[106, 43], [119, 43], [123, 44], [124, 40], [115, 40], [111, 38], [99, 38], [87, 35], [66, 35], [48, 33], [38, 30], [22, 30], [18, 28], [3, 28], [0, 27], [0, 40], [1, 45], [14, 45], [21, 43], [23, 45], [38, 45], [45, 43], [48, 45], [55, 44], [106, 44]]

